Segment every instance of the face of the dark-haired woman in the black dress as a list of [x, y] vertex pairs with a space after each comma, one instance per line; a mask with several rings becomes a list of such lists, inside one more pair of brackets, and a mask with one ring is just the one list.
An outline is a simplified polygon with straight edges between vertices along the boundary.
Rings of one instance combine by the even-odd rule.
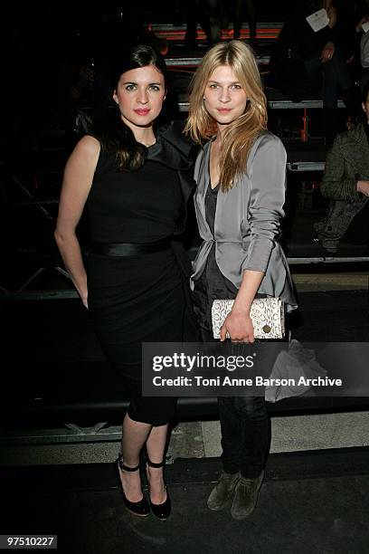
[[113, 94], [123, 121], [131, 129], [150, 127], [159, 115], [165, 98], [164, 75], [155, 65], [122, 73]]

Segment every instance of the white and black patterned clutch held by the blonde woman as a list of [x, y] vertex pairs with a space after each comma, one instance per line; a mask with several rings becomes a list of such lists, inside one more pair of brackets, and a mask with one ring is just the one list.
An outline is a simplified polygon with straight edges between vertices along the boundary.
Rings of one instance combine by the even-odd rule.
[[[213, 337], [220, 339], [221, 327], [232, 310], [232, 300], [215, 300], [212, 306]], [[284, 307], [279, 298], [268, 296], [255, 298], [251, 304], [250, 316], [255, 339], [283, 339]]]

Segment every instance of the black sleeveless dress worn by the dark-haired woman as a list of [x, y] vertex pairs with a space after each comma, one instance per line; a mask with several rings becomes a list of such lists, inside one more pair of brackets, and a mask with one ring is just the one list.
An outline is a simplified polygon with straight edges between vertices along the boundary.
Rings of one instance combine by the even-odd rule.
[[[87, 201], [92, 243], [150, 244], [172, 237], [185, 200], [175, 164], [166, 161], [159, 138], [136, 171], [119, 171], [115, 153], [100, 152]], [[128, 414], [165, 423], [175, 398], [142, 397], [141, 346], [183, 339], [184, 276], [173, 248], [122, 257], [90, 253], [88, 291], [94, 329], [128, 387]]]

